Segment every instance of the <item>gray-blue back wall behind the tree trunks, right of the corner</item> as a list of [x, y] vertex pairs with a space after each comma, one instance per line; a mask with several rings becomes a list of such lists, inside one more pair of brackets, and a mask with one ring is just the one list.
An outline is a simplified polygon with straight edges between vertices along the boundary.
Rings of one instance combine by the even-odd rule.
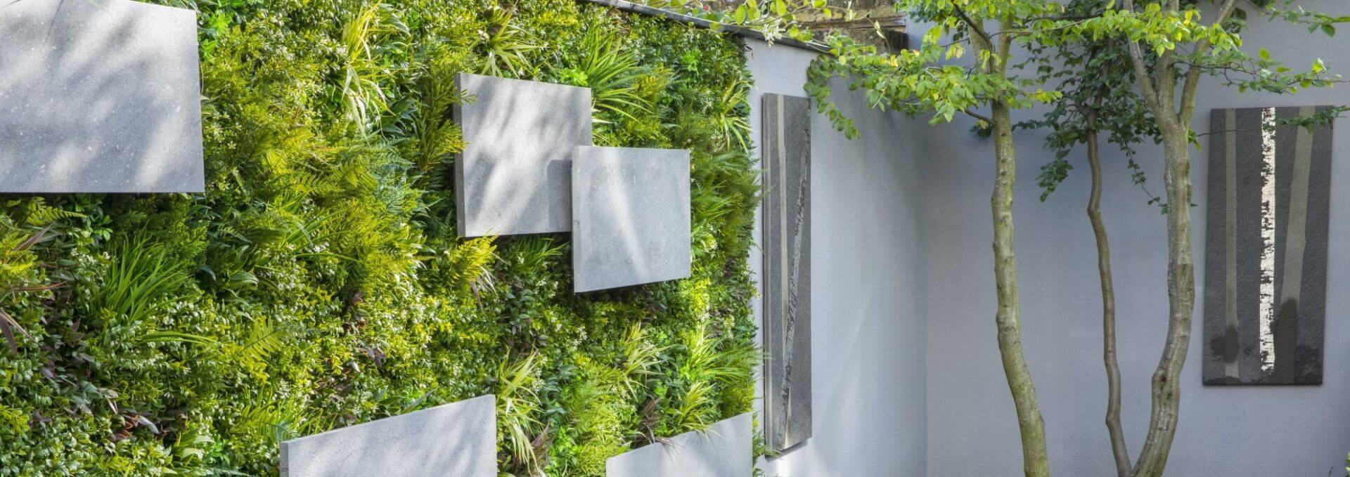
[[[1339, 0], [1303, 1], [1310, 9], [1350, 13]], [[1308, 35], [1285, 24], [1253, 24], [1251, 47], [1307, 67], [1315, 57], [1350, 73], [1345, 38]], [[1195, 127], [1210, 131], [1211, 108], [1350, 104], [1350, 89], [1296, 96], [1238, 94], [1214, 80], [1202, 86]], [[925, 181], [929, 286], [927, 474], [1013, 476], [1021, 447], [1013, 402], [999, 364], [994, 329], [994, 282], [988, 191], [991, 144], [973, 137], [969, 123], [929, 129], [934, 154]], [[1181, 420], [1169, 476], [1341, 476], [1350, 450], [1350, 132], [1339, 124], [1334, 144], [1331, 245], [1326, 327], [1326, 384], [1320, 387], [1203, 387], [1202, 317], [1197, 305], [1183, 373]], [[1052, 470], [1058, 476], [1108, 476], [1106, 377], [1102, 367], [1100, 294], [1095, 247], [1084, 214], [1087, 164], [1046, 203], [1038, 203], [1035, 175], [1050, 159], [1041, 136], [1018, 136], [1018, 265], [1023, 344], [1045, 414]], [[1145, 147], [1141, 163], [1150, 190], [1161, 193], [1160, 150]], [[1149, 419], [1149, 379], [1166, 329], [1166, 249], [1164, 218], [1130, 186], [1123, 159], [1104, 159], [1104, 216], [1114, 248], [1119, 306], [1125, 431], [1138, 453]], [[1204, 292], [1207, 159], [1192, 154], [1197, 296]]]

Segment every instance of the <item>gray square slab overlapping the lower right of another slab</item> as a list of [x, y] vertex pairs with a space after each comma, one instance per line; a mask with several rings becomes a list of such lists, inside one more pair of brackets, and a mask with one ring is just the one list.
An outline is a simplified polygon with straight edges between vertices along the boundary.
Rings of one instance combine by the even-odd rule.
[[690, 275], [688, 151], [579, 147], [572, 193], [578, 292]]

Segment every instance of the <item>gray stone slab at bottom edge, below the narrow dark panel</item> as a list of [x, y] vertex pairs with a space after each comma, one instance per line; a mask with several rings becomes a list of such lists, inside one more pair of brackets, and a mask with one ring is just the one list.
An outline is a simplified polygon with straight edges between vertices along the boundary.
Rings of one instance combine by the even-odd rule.
[[609, 477], [749, 477], [755, 473], [751, 414], [718, 422], [605, 461]]

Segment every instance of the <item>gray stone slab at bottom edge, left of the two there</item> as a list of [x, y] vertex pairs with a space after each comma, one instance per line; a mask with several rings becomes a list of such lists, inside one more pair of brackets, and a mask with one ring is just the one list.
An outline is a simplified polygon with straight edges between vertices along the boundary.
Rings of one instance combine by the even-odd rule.
[[495, 411], [487, 395], [286, 441], [281, 476], [493, 477]]

